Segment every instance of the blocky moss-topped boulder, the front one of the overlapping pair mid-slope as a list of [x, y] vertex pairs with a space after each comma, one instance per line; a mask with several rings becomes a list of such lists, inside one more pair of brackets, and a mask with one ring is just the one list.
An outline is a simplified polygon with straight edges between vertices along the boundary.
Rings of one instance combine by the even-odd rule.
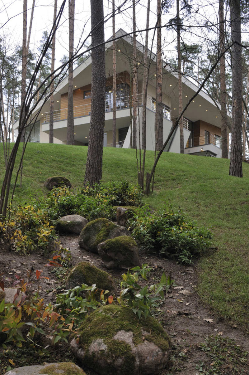
[[138, 246], [132, 237], [119, 236], [101, 242], [98, 253], [108, 269], [141, 266]]

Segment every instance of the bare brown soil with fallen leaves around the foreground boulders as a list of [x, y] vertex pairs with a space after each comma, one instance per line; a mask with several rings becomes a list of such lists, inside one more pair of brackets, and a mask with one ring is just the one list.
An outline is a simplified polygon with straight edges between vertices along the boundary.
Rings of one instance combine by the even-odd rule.
[[[72, 255], [71, 263], [74, 266], [80, 261], [89, 261], [102, 270], [106, 270], [98, 254], [92, 254], [78, 245], [78, 236], [62, 236], [61, 244], [64, 248], [69, 248]], [[48, 276], [49, 280], [43, 279], [40, 285], [41, 297], [49, 301], [54, 301], [56, 293], [64, 288], [64, 283], [56, 279], [55, 273], [50, 267], [44, 267], [47, 264], [47, 257], [39, 253], [29, 256], [19, 255], [0, 245], [0, 275], [4, 274], [12, 278], [12, 282], [5, 282], [6, 287], [11, 287], [15, 280], [15, 275], [26, 278], [27, 270], [32, 269], [31, 276], [36, 286], [36, 270], [42, 270], [43, 276]], [[152, 267], [149, 284], [160, 280], [163, 271], [175, 280], [176, 287], [171, 287], [167, 293], [165, 301], [160, 306], [160, 311], [155, 312], [156, 317], [162, 323], [164, 329], [169, 334], [172, 341], [172, 354], [174, 359], [169, 363], [166, 370], [161, 375], [181, 374], [196, 375], [200, 374], [195, 369], [200, 363], [210, 364], [210, 359], [206, 354], [198, 349], [198, 344], [204, 342], [208, 335], [221, 335], [229, 337], [236, 341], [245, 350], [249, 351], [249, 336], [237, 329], [231, 327], [219, 317], [205, 308], [196, 293], [198, 283], [197, 266], [182, 266], [175, 261], [159, 258], [156, 255], [140, 254], [142, 263], [148, 263]], [[121, 275], [126, 270], [111, 270], [109, 273], [113, 276], [117, 286], [116, 294], [119, 294], [118, 286], [121, 281]], [[37, 288], [37, 287], [36, 287]], [[63, 360], [65, 353], [68, 355], [67, 348], [58, 347], [58, 361], [60, 357]], [[94, 375], [92, 371], [84, 369], [87, 374]], [[1, 372], [3, 374], [3, 372]], [[233, 374], [233, 372], [227, 372]], [[243, 372], [249, 374], [249, 372]]]

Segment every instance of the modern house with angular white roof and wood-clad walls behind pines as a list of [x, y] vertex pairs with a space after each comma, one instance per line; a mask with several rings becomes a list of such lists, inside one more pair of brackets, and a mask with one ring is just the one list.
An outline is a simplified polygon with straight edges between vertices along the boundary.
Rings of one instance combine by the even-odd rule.
[[[117, 31], [117, 95], [116, 95], [116, 146], [130, 147], [130, 118], [133, 106], [132, 84], [132, 38]], [[142, 78], [144, 46], [137, 42], [138, 68], [138, 119], [142, 124]], [[163, 64], [165, 65], [165, 64]], [[74, 132], [75, 144], [87, 145], [91, 114], [91, 56], [74, 69]], [[105, 93], [105, 133], [104, 146], [112, 145], [113, 123], [113, 65], [112, 42], [105, 45], [106, 93]], [[197, 92], [198, 87], [186, 78], [182, 78], [183, 107]], [[178, 75], [169, 66], [163, 68], [163, 140], [167, 138], [172, 121], [178, 116]], [[148, 150], [155, 147], [155, 108], [156, 108], [156, 57], [151, 56], [150, 78], [147, 93], [146, 144]], [[55, 143], [66, 143], [67, 137], [67, 101], [68, 77], [57, 87], [54, 93], [53, 134]], [[31, 134], [31, 142], [49, 142], [49, 100], [40, 104], [42, 111], [37, 118]], [[40, 108], [39, 107], [39, 108]], [[229, 115], [229, 114], [228, 114]], [[14, 126], [17, 132], [18, 122]], [[138, 136], [137, 136], [138, 139]], [[139, 142], [139, 140], [138, 140]], [[193, 99], [184, 113], [185, 153], [221, 157], [221, 115], [219, 104], [204, 92]], [[174, 132], [166, 148], [170, 152], [180, 152], [179, 127]]]

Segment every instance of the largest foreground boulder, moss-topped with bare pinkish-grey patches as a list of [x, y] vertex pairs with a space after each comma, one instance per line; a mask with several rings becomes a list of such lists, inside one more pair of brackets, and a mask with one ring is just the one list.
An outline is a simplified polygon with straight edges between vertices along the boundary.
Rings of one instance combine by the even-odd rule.
[[108, 305], [83, 321], [71, 349], [101, 375], [152, 375], [165, 368], [169, 336], [156, 319], [138, 321], [130, 308]]

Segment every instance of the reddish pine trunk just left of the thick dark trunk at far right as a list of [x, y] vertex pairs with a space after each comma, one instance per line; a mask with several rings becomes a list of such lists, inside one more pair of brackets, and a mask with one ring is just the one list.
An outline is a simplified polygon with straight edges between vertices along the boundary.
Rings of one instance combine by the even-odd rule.
[[222, 54], [219, 63], [220, 74], [220, 104], [221, 104], [221, 157], [228, 159], [227, 143], [227, 89], [225, 77], [225, 32], [224, 32], [224, 0], [219, 0], [219, 53]]

